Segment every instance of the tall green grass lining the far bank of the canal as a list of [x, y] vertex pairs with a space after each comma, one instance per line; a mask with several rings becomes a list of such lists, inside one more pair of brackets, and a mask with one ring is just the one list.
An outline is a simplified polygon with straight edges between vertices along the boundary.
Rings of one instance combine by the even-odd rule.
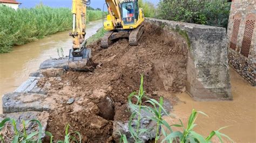
[[[87, 22], [102, 18], [102, 11], [87, 10]], [[38, 5], [15, 11], [0, 6], [0, 53], [14, 45], [22, 45], [72, 27], [72, 13], [68, 8]]]

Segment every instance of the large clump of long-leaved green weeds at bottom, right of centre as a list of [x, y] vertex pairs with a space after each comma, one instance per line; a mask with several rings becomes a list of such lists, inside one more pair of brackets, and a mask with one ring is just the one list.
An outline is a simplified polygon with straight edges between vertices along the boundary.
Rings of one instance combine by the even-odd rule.
[[[169, 114], [165, 111], [163, 104], [164, 104], [164, 99], [163, 97], [160, 97], [159, 102], [156, 101], [155, 99], [149, 98], [146, 102], [143, 102], [142, 99], [146, 97], [145, 91], [143, 90], [143, 75], [140, 78], [140, 88], [138, 95], [136, 95], [136, 92], [132, 92], [132, 94], [128, 98], [128, 103], [131, 108], [131, 117], [129, 120], [129, 131], [132, 136], [132, 138], [135, 140], [135, 142], [142, 142], [143, 140], [140, 138], [140, 135], [142, 133], [147, 133], [146, 128], [140, 128], [140, 116], [142, 113], [142, 110], [150, 113], [147, 118], [156, 121], [156, 135], [155, 135], [155, 142], [159, 141], [159, 138], [161, 135], [163, 135], [165, 138], [161, 142], [203, 142], [203, 143], [208, 143], [211, 142], [212, 137], [216, 135], [220, 142], [223, 142], [223, 137], [227, 138], [228, 140], [232, 141], [231, 138], [229, 138], [227, 135], [220, 133], [220, 130], [223, 128], [220, 128], [217, 131], [212, 131], [208, 137], [204, 138], [203, 135], [198, 134], [197, 132], [193, 131], [194, 127], [197, 126], [197, 124], [194, 124], [198, 114], [200, 113], [201, 115], [207, 116], [204, 112], [192, 110], [192, 113], [190, 115], [190, 118], [188, 119], [188, 124], [187, 127], [185, 128], [183, 122], [180, 120], [180, 124], [174, 124], [174, 125], [169, 125], [162, 117], [164, 115], [169, 116]], [[137, 102], [136, 104], [132, 103], [132, 98], [136, 97]], [[147, 97], [146, 97], [147, 98]], [[150, 103], [150, 106], [144, 105], [144, 103]], [[136, 118], [137, 117], [137, 118]], [[208, 116], [207, 116], [208, 117]], [[137, 119], [136, 122], [136, 127], [137, 130], [135, 131], [134, 128], [132, 127], [132, 121], [133, 119]], [[173, 131], [171, 127], [180, 127], [181, 131]], [[167, 128], [167, 131], [165, 131], [164, 127]], [[125, 134], [121, 134], [120, 142], [127, 142], [127, 137]], [[232, 141], [233, 142], [233, 141]]]

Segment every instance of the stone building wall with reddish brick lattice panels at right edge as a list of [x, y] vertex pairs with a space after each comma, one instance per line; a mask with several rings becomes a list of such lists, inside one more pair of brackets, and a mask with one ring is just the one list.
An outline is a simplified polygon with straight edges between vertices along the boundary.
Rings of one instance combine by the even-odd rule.
[[228, 59], [240, 75], [256, 85], [256, 2], [233, 1], [227, 28]]

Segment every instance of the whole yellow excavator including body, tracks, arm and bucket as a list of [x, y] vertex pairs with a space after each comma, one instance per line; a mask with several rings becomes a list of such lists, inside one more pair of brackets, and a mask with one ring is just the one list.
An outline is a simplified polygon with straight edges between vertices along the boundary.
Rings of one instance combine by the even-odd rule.
[[[143, 9], [139, 8], [138, 0], [105, 0], [109, 15], [104, 22], [108, 32], [101, 40], [101, 47], [107, 48], [118, 38], [129, 38], [131, 46], [138, 45], [138, 40], [144, 32]], [[96, 64], [91, 60], [91, 49], [86, 47], [86, 6], [90, 0], [72, 0], [73, 27], [70, 36], [73, 46], [69, 53], [69, 69], [92, 71]]]

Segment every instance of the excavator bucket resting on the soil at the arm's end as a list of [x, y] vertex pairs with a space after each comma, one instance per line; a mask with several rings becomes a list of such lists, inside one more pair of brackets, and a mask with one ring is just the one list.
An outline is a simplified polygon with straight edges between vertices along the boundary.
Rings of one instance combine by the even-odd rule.
[[91, 59], [91, 49], [83, 48], [80, 51], [70, 49], [69, 52], [69, 70], [74, 71], [93, 71], [97, 66]]

